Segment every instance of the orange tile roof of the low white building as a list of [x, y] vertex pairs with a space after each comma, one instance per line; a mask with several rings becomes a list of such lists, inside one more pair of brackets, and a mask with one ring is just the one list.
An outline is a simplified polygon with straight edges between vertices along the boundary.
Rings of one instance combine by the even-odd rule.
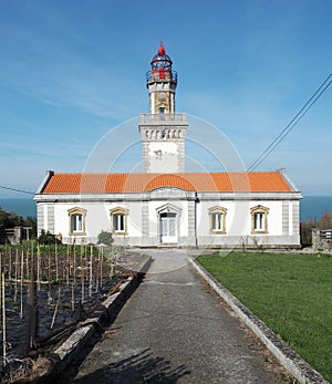
[[160, 187], [207, 191], [292, 191], [280, 172], [185, 174], [54, 174], [42, 194], [142, 193]]

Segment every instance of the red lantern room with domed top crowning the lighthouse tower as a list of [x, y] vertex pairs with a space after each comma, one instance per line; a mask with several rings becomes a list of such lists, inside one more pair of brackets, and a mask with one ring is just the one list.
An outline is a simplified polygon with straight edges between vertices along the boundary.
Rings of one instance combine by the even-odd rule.
[[164, 44], [160, 42], [158, 52], [154, 55], [151, 62], [151, 71], [147, 72], [147, 82], [155, 81], [177, 81], [177, 73], [172, 71], [173, 61], [166, 54]]

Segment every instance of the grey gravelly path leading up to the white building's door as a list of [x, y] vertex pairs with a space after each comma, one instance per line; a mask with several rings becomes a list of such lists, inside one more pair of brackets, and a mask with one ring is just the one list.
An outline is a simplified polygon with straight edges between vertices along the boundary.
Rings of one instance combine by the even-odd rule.
[[281, 383], [269, 354], [187, 263], [155, 259], [73, 383]]

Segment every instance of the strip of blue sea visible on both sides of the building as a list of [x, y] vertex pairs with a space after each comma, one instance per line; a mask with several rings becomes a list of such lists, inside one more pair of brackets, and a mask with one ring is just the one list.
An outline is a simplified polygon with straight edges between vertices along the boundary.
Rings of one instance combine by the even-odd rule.
[[[1, 198], [0, 208], [17, 212], [19, 216], [37, 217], [35, 203], [33, 198]], [[307, 221], [319, 220], [323, 214], [332, 212], [332, 196], [304, 196], [300, 206], [300, 219]]]

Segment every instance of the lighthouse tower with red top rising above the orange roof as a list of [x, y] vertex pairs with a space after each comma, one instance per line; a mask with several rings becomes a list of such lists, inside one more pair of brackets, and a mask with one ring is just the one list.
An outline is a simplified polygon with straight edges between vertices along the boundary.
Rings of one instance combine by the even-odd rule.
[[138, 125], [143, 146], [143, 170], [147, 173], [185, 172], [185, 114], [175, 113], [177, 73], [160, 43], [146, 74], [149, 114]]

